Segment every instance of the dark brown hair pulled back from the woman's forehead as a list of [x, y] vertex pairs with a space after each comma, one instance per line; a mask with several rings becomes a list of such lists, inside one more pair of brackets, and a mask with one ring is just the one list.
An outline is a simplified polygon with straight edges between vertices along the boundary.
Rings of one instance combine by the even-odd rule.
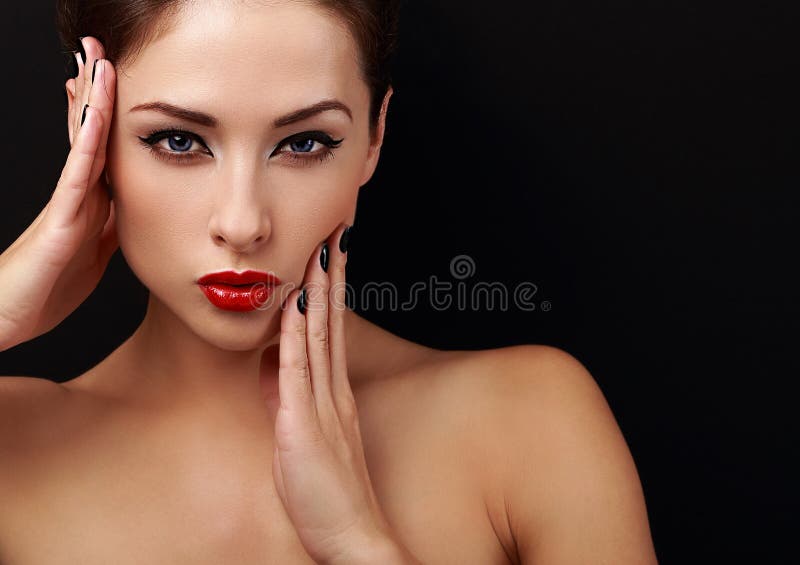
[[[81, 49], [80, 37], [95, 37], [103, 44], [106, 58], [115, 66], [124, 67], [149, 42], [171, 28], [185, 1], [56, 0], [59, 39], [65, 52], [73, 57], [72, 53]], [[370, 90], [370, 130], [374, 134], [381, 102], [391, 85], [401, 0], [312, 2], [339, 16], [355, 39], [362, 78]]]

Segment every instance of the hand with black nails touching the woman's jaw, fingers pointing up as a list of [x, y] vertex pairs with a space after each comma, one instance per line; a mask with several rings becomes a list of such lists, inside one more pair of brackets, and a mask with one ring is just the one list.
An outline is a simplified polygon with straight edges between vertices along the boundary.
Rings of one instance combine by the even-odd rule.
[[347, 375], [344, 227], [312, 255], [303, 285], [305, 314], [298, 303], [302, 289], [295, 289], [282, 307], [279, 351], [267, 348], [262, 360], [261, 382], [275, 422], [272, 474], [317, 563], [406, 563], [408, 554], [372, 489]]

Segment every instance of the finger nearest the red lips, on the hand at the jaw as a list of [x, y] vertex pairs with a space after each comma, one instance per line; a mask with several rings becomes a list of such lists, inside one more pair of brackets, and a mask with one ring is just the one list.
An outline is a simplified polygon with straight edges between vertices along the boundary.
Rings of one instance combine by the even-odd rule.
[[280, 363], [278, 366], [279, 411], [287, 413], [289, 428], [276, 423], [275, 436], [281, 445], [299, 440], [318, 442], [323, 436], [311, 390], [311, 372], [306, 356], [306, 318], [298, 309], [303, 293], [295, 289], [286, 299], [281, 315]]

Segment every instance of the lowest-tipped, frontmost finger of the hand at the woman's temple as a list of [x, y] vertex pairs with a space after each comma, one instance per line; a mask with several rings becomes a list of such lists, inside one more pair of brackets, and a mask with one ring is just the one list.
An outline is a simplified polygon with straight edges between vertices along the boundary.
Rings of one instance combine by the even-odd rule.
[[51, 222], [55, 229], [70, 226], [83, 202], [89, 185], [100, 132], [102, 116], [94, 108], [86, 108], [86, 121], [75, 139], [75, 144], [67, 156], [53, 195], [47, 205], [47, 214], [42, 221]]

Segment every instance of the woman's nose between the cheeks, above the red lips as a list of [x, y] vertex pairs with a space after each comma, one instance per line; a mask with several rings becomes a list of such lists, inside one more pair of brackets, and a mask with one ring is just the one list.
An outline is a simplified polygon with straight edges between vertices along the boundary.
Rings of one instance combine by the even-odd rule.
[[208, 226], [216, 244], [249, 253], [267, 240], [269, 220], [259, 197], [255, 183], [219, 191]]

